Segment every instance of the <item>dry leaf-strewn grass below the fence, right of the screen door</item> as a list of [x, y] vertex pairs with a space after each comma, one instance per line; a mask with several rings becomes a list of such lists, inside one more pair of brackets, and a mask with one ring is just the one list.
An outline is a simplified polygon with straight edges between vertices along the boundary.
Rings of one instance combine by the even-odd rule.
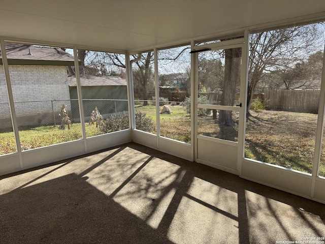
[[[317, 115], [285, 111], [252, 113], [246, 123], [245, 157], [311, 173]], [[321, 175], [324, 175], [322, 154]]]

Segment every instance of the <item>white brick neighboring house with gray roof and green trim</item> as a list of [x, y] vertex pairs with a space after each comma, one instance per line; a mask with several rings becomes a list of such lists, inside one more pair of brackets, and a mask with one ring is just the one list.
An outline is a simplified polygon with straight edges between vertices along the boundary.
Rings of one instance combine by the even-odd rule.
[[[6, 53], [18, 126], [53, 123], [62, 103], [71, 109], [65, 82], [67, 66], [74, 66], [72, 55], [60, 48], [11, 43]], [[0, 53], [0, 129], [12, 126], [2, 64]]]

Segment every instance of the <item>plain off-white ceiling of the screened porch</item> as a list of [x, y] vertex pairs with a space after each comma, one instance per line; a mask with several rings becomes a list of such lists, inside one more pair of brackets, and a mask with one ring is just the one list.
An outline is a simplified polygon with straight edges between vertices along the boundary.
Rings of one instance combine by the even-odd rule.
[[0, 36], [138, 50], [316, 13], [324, 0], [0, 0]]

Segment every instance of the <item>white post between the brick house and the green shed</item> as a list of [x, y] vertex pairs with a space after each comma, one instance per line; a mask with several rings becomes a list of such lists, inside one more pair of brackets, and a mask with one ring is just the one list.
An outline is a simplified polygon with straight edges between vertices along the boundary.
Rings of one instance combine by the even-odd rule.
[[74, 58], [75, 58], [75, 70], [76, 70], [76, 81], [77, 81], [77, 94], [78, 94], [78, 103], [79, 103], [80, 124], [81, 124], [82, 137], [83, 137], [84, 146], [85, 146], [85, 153], [87, 153], [85, 116], [84, 116], [84, 113], [83, 113], [83, 103], [82, 103], [80, 71], [79, 71], [79, 59], [78, 59], [77, 47], [73, 48], [73, 55], [74, 55]]

